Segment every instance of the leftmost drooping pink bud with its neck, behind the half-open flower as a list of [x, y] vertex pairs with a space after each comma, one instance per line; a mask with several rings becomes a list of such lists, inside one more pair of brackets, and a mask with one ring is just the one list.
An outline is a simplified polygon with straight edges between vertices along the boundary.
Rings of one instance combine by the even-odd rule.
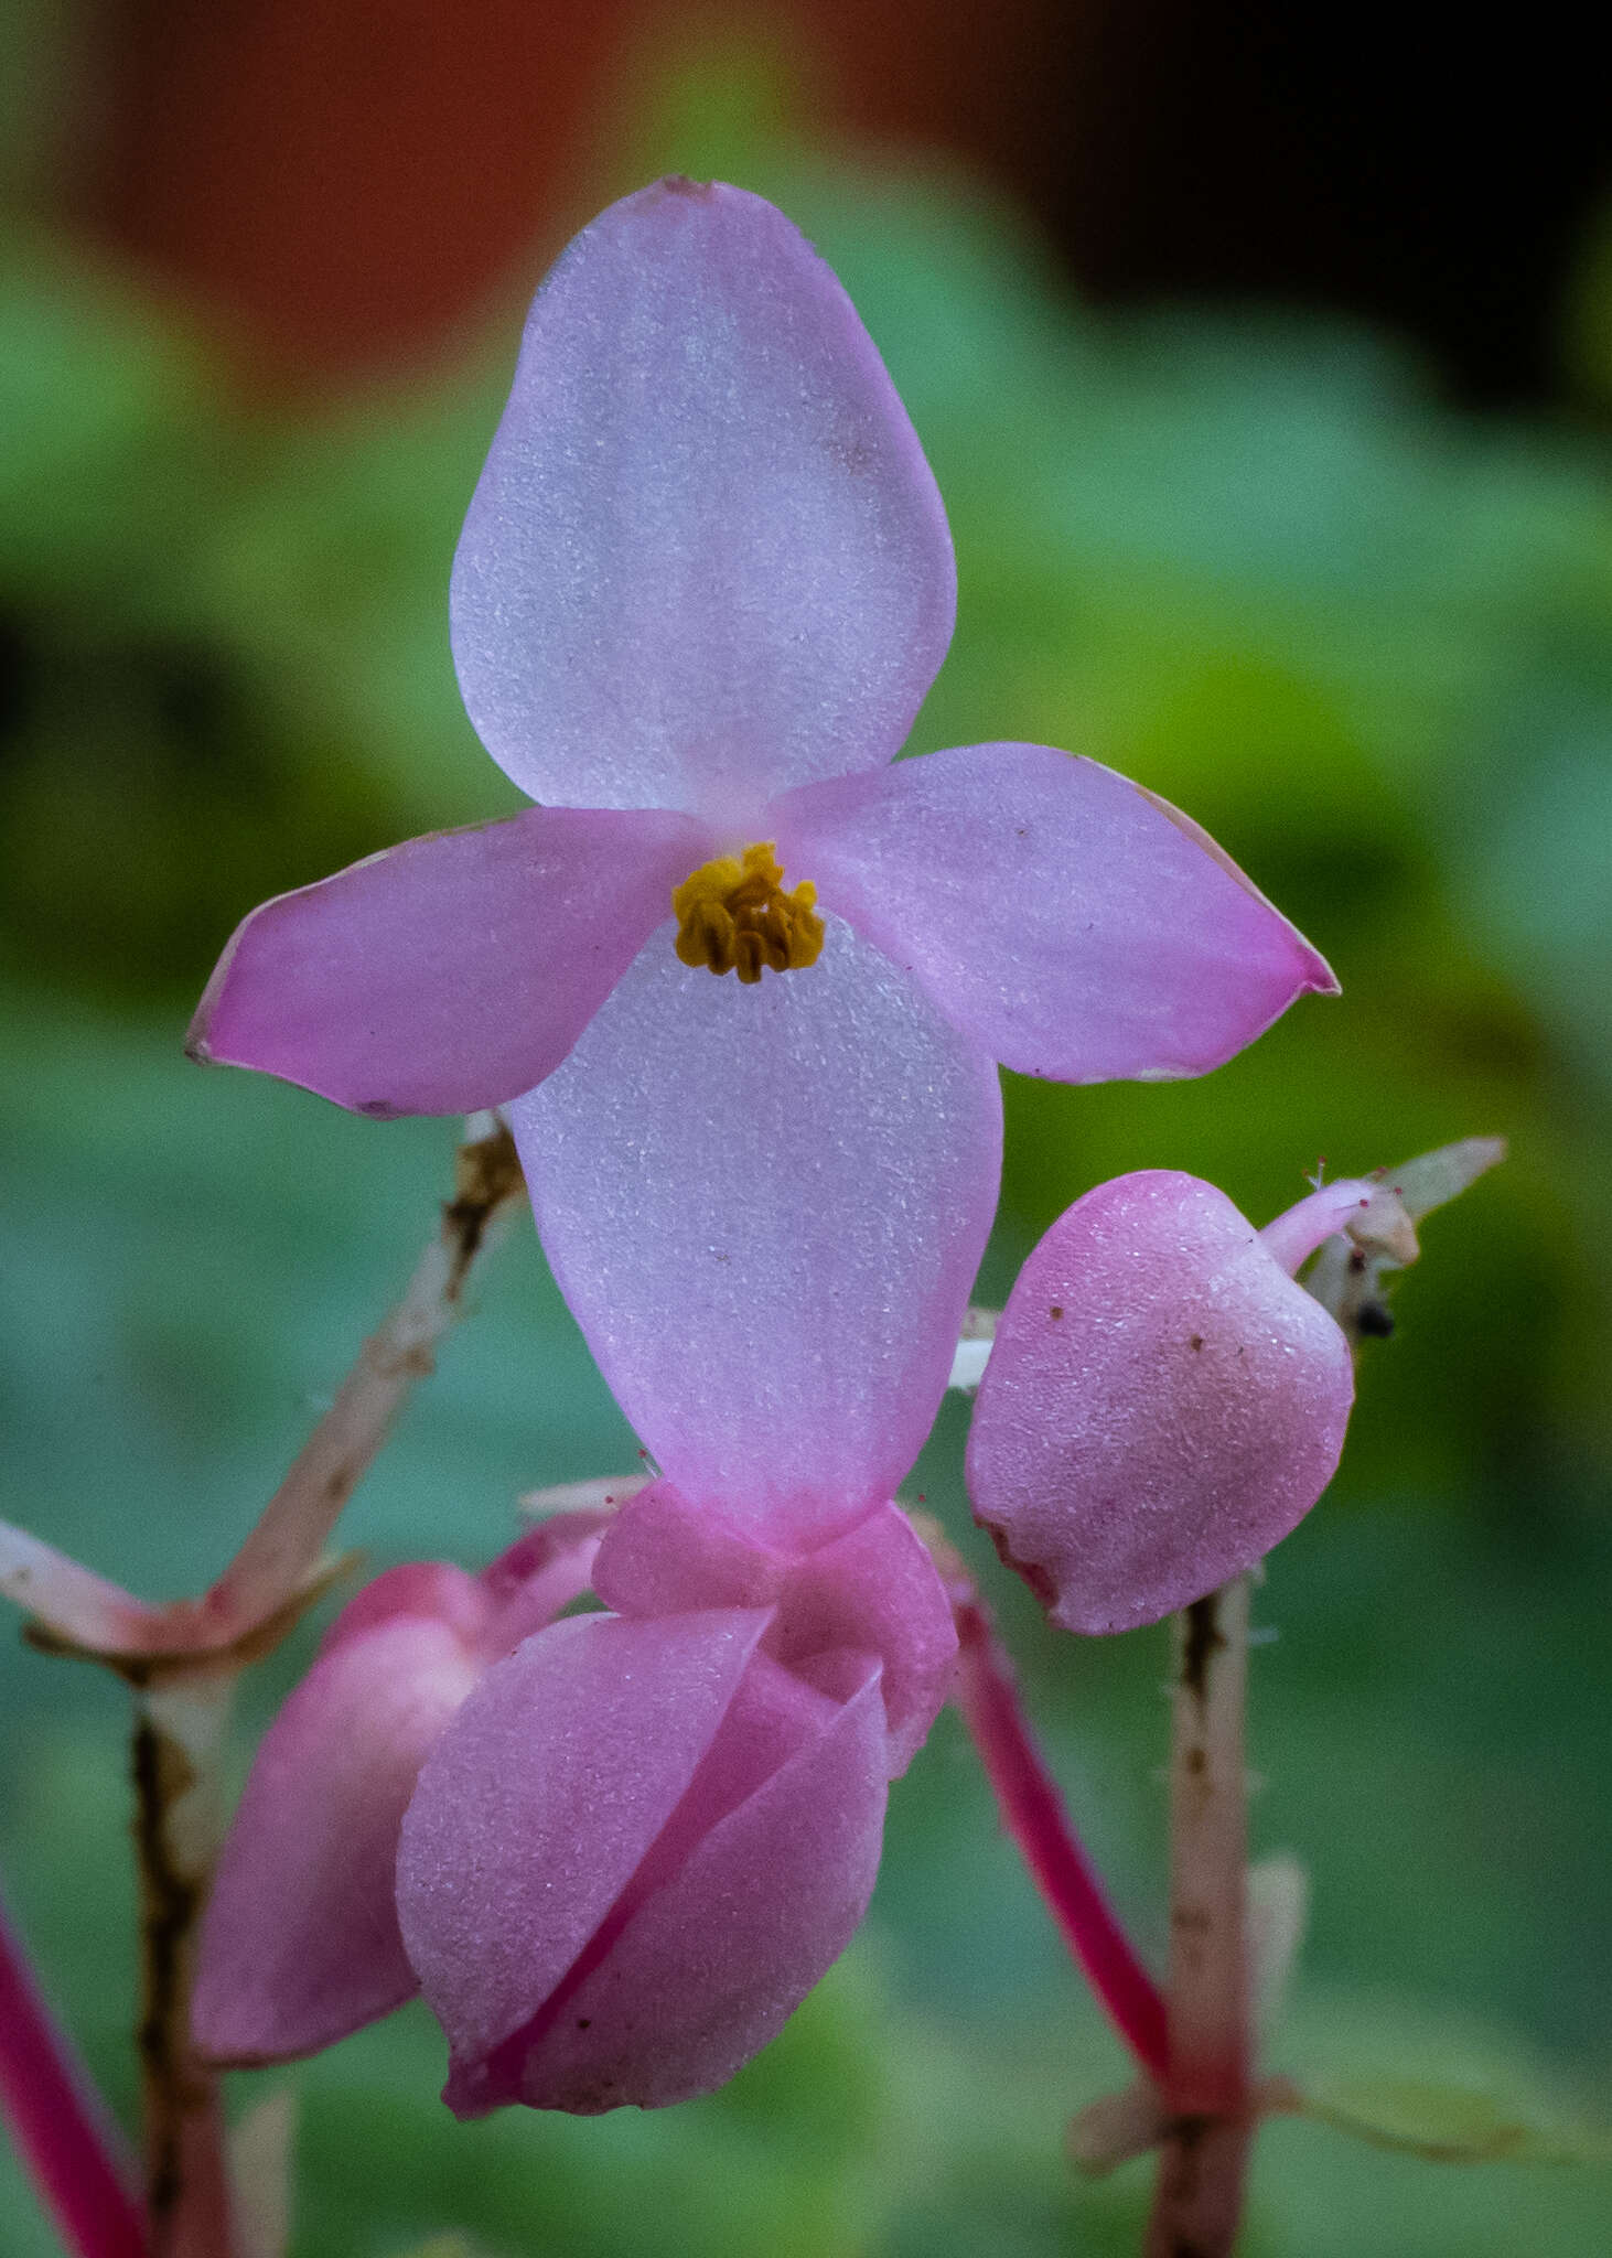
[[564, 1513], [481, 1576], [388, 1569], [332, 1624], [257, 1750], [201, 1931], [192, 2025], [287, 2062], [418, 1989], [393, 1908], [420, 1763], [483, 1671], [587, 1590], [605, 1513]]

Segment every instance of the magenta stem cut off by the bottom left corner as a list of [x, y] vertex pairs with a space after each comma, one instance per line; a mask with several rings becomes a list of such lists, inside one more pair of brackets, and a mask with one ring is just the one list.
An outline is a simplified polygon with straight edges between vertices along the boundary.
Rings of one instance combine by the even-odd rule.
[[75, 2258], [147, 2258], [120, 2143], [0, 1906], [0, 2111]]

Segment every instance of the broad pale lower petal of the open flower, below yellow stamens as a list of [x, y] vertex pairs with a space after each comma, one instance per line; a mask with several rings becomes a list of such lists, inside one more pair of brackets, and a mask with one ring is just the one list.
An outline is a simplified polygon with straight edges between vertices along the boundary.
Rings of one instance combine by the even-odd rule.
[[826, 1533], [930, 1429], [996, 1206], [989, 1061], [838, 919], [738, 987], [643, 955], [510, 1106], [549, 1262], [693, 1504]]

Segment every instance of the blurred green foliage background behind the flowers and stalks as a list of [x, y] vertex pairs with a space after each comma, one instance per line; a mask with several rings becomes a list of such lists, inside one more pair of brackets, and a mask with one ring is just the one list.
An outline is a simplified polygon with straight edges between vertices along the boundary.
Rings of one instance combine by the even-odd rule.
[[[50, 88], [65, 16], [7, 16]], [[41, 102], [45, 95], [41, 95]], [[0, 1513], [135, 1590], [244, 1535], [443, 1194], [452, 1124], [203, 1075], [183, 1025], [235, 919], [512, 806], [458, 709], [445, 578], [531, 257], [429, 375], [253, 382], [172, 289], [50, 215], [9, 120], [0, 228]], [[840, 271], [939, 476], [960, 628], [919, 747], [1036, 738], [1199, 817], [1330, 955], [1201, 1084], [1011, 1084], [1000, 1298], [1093, 1181], [1201, 1172], [1267, 1219], [1334, 1170], [1504, 1134], [1425, 1231], [1343, 1470], [1271, 1560], [1260, 1849], [1312, 1870], [1271, 2066], [1440, 2075], [1612, 2116], [1605, 1373], [1612, 483], [1594, 418], [1440, 406], [1391, 341], [1242, 309], [1097, 316], [978, 176], [826, 147], [772, 50], [657, 45], [589, 196], [659, 169], [779, 201]], [[585, 217], [582, 205], [576, 217]], [[1574, 300], [1612, 377], [1612, 260]], [[1009, 1077], [1011, 1082], [1011, 1077]], [[973, 1542], [950, 1400], [919, 1468], [980, 1563], [1077, 1818], [1163, 1940], [1163, 1633], [1050, 1635]], [[533, 1484], [632, 1438], [524, 1226], [343, 1533], [479, 1563]], [[255, 1718], [314, 1628], [257, 1673]], [[97, 2073], [133, 2095], [124, 1700], [0, 1651], [0, 1872]], [[242, 1739], [242, 1754], [246, 1736]], [[409, 2012], [289, 2082], [296, 2258], [463, 2231], [490, 2258], [1041, 2258], [1138, 2247], [1149, 2170], [1072, 2179], [1124, 2080], [950, 1718], [896, 1791], [874, 1915], [736, 2084], [659, 2116], [454, 2127]], [[287, 2080], [278, 2080], [287, 2082]], [[237, 2080], [239, 2100], [275, 2084]], [[9, 2156], [0, 2242], [52, 2249]], [[1585, 2253], [1605, 2168], [1260, 2145], [1249, 2253]]]

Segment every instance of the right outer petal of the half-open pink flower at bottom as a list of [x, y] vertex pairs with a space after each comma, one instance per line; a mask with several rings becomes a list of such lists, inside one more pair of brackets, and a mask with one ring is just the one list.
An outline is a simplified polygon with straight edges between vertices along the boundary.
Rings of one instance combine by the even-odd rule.
[[883, 1820], [885, 1718], [867, 1669], [630, 1913], [526, 2046], [519, 2089], [499, 2098], [594, 2113], [725, 2084], [851, 1942]]

